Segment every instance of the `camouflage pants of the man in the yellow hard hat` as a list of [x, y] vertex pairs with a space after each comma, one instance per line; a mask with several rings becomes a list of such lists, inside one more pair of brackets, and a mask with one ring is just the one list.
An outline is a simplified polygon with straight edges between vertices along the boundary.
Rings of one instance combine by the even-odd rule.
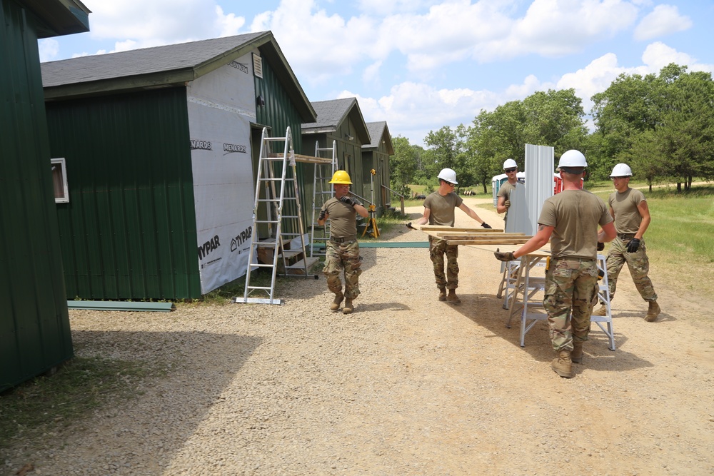
[[362, 258], [359, 255], [357, 240], [334, 243], [327, 240], [325, 268], [322, 272], [327, 278], [327, 288], [333, 293], [342, 292], [340, 274], [345, 273], [345, 297], [354, 299], [359, 295], [359, 275], [362, 274]]

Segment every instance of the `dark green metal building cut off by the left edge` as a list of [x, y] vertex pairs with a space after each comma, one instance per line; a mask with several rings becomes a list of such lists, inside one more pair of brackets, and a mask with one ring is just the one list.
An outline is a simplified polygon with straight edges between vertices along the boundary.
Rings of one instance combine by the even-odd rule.
[[37, 40], [89, 31], [76, 0], [0, 0], [0, 391], [74, 355]]

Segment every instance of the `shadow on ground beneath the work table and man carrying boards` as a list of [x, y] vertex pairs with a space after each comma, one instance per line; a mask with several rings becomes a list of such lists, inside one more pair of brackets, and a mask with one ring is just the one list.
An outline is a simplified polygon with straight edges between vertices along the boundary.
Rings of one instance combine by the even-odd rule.
[[[502, 299], [491, 294], [463, 294], [460, 293], [461, 305], [451, 306], [458, 313], [461, 313], [469, 320], [483, 328], [490, 330], [493, 337], [521, 346], [521, 320], [520, 315], [516, 315], [511, 320], [511, 328], [506, 327], [508, 323], [508, 310], [503, 309]], [[592, 370], [617, 371], [632, 370], [635, 368], [653, 367], [648, 360], [643, 360], [637, 355], [625, 352], [620, 346], [627, 342], [622, 334], [618, 334], [616, 323], [613, 324], [615, 330], [615, 351], [608, 348], [610, 340], [603, 333], [597, 324], [592, 323], [588, 342], [583, 346], [585, 358], [583, 365], [587, 365]], [[548, 323], [538, 321], [531, 330], [526, 333], [526, 346], [523, 351], [530, 354], [538, 362], [549, 363], [553, 360], [555, 353], [550, 344], [548, 335]]]

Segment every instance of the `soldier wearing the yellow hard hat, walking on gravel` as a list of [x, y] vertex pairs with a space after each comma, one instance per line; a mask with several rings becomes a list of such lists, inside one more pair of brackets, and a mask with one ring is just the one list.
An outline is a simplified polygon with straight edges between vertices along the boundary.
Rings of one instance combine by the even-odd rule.
[[[354, 310], [353, 300], [359, 295], [359, 275], [362, 274], [362, 258], [357, 241], [356, 215], [367, 218], [368, 211], [361, 203], [349, 196], [352, 181], [346, 171], [336, 171], [330, 183], [335, 188], [335, 196], [322, 206], [318, 224], [323, 226], [330, 219], [330, 239], [327, 240], [325, 268], [327, 288], [335, 293], [330, 310], [339, 310], [342, 300], [343, 314]], [[340, 274], [344, 270], [345, 292], [342, 292]]]

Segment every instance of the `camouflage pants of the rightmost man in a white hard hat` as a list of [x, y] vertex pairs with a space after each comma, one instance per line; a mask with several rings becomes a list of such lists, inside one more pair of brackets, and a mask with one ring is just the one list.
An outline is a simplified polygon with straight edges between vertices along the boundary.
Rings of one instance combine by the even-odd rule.
[[640, 248], [638, 248], [635, 253], [628, 253], [628, 243], [630, 243], [630, 238], [622, 240], [619, 236], [610, 243], [610, 251], [608, 252], [610, 300], [613, 300], [613, 297], [615, 297], [615, 290], [618, 287], [618, 276], [625, 263], [627, 263], [630, 275], [635, 283], [635, 288], [639, 291], [640, 296], [646, 301], [657, 300], [657, 293], [655, 293], [655, 288], [648, 276], [650, 273], [650, 260], [647, 258], [647, 248], [645, 248], [644, 238], [640, 239]]

